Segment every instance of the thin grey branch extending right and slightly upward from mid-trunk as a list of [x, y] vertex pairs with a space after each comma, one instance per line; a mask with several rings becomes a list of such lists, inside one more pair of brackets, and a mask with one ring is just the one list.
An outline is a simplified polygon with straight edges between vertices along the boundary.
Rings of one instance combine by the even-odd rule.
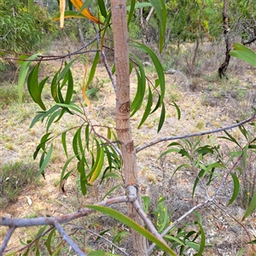
[[180, 136], [160, 137], [160, 138], [158, 138], [158, 139], [156, 139], [152, 142], [145, 143], [144, 145], [136, 148], [136, 153], [142, 151], [145, 148], [151, 147], [151, 146], [153, 146], [154, 144], [157, 144], [157, 143], [162, 143], [162, 142], [172, 141], [172, 140], [177, 140], [177, 139], [183, 139], [183, 138], [188, 138], [188, 137], [199, 137], [199, 136], [203, 136], [203, 135], [207, 135], [207, 134], [216, 133], [216, 132], [219, 132], [219, 131], [230, 130], [230, 129], [236, 128], [238, 126], [244, 125], [244, 124], [252, 121], [253, 119], [255, 119], [255, 116], [256, 116], [256, 114], [253, 111], [253, 116], [251, 116], [247, 119], [244, 119], [243, 121], [241, 121], [241, 122], [239, 122], [235, 125], [229, 125], [229, 126], [225, 126], [223, 128], [213, 129], [211, 131], [201, 131], [201, 132], [190, 133], [190, 134], [180, 135]]

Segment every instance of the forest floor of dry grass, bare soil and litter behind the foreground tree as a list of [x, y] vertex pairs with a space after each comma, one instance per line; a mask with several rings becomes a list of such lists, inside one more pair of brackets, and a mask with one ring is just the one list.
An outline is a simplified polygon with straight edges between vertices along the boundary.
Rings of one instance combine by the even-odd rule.
[[[241, 62], [239, 62], [241, 63]], [[236, 68], [240, 68], [236, 64]], [[242, 64], [241, 64], [242, 65]], [[54, 63], [45, 63], [41, 79], [45, 75], [53, 74], [57, 68], [61, 66], [61, 61]], [[159, 120], [159, 112], [150, 116], [145, 124], [137, 129], [140, 122], [142, 112], [136, 113], [132, 117], [132, 127], [135, 137], [135, 144], [144, 144], [154, 140], [156, 137], [167, 137], [173, 134], [183, 135], [192, 132], [209, 131], [212, 129], [235, 124], [236, 120], [246, 119], [252, 114], [253, 97], [256, 96], [256, 70], [252, 67], [242, 67], [242, 72], [236, 73], [236, 69], [230, 71], [230, 79], [218, 79], [216, 73], [208, 73], [194, 79], [187, 79], [179, 73], [166, 73], [166, 122], [159, 133], [157, 133], [157, 122]], [[151, 67], [147, 67], [148, 79], [155, 79], [155, 74]], [[84, 74], [84, 64], [78, 62], [72, 68], [75, 78], [75, 86], [79, 91], [81, 79]], [[188, 83], [189, 81], [189, 83]], [[136, 74], [131, 74], [131, 94], [134, 95], [136, 90]], [[15, 86], [9, 82], [2, 81], [0, 84], [0, 92], [6, 87], [15, 90]], [[108, 74], [102, 64], [96, 69], [96, 78], [91, 84], [91, 88], [98, 89], [95, 96], [91, 98], [91, 102], [96, 113], [96, 123], [101, 125], [114, 125], [114, 105], [115, 96], [113, 88], [108, 79]], [[50, 102], [49, 92], [44, 92], [44, 99]], [[45, 127], [41, 123], [37, 123], [31, 129], [29, 126], [39, 107], [25, 98], [22, 105], [15, 101], [2, 105], [0, 110], [0, 165], [11, 166], [15, 162], [20, 162], [23, 168], [22, 172], [26, 172], [26, 168], [32, 168], [34, 173], [38, 172], [38, 160], [32, 160], [32, 154], [40, 142], [40, 138], [45, 133]], [[176, 109], [172, 107], [172, 102], [176, 102], [181, 110], [181, 119], [177, 119]], [[92, 117], [90, 110], [88, 115]], [[65, 127], [70, 127], [79, 119], [70, 119], [70, 116], [65, 116], [60, 123], [55, 124], [54, 131], [58, 132]], [[239, 129], [230, 131], [233, 137], [242, 142], [242, 136]], [[214, 135], [214, 139], [218, 140], [218, 136], [224, 136], [224, 133]], [[207, 137], [203, 140], [207, 142]], [[195, 139], [191, 139], [195, 142]], [[156, 206], [156, 202], [162, 196], [166, 196], [165, 204], [169, 212], [169, 221], [173, 222], [185, 212], [188, 212], [191, 207], [196, 206], [199, 202], [206, 200], [204, 190], [198, 186], [195, 197], [191, 197], [193, 184], [197, 173], [192, 170], [180, 169], [174, 177], [173, 172], [177, 166], [183, 163], [183, 159], [176, 154], [168, 154], [159, 160], [160, 154], [166, 150], [168, 143], [160, 143], [153, 148], [146, 148], [137, 154], [140, 188], [143, 195], [148, 195], [151, 198], [151, 207]], [[230, 149], [229, 143], [221, 143], [224, 154]], [[12, 177], [9, 173], [8, 177], [2, 177], [0, 183], [0, 215], [11, 218], [35, 218], [55, 216], [65, 213], [75, 212], [79, 207], [85, 204], [95, 203], [100, 201], [102, 196], [107, 193], [117, 182], [109, 181], [101, 186], [92, 186], [88, 194], [83, 196], [79, 190], [79, 176], [77, 172], [67, 180], [66, 193], [62, 193], [59, 189], [59, 180], [61, 169], [66, 161], [66, 156], [61, 148], [61, 142], [55, 145], [52, 160], [49, 166], [45, 169], [45, 179], [40, 177], [38, 181], [24, 183], [20, 188], [20, 193], [15, 198], [14, 202], [6, 201], [5, 189], [8, 186], [9, 180], [15, 179], [19, 183], [19, 177]], [[256, 157], [252, 156], [250, 166], [247, 166], [247, 175], [255, 172]], [[20, 168], [20, 166], [19, 166]], [[21, 168], [21, 169], [22, 169]], [[255, 176], [254, 176], [255, 177]], [[0, 172], [1, 178], [1, 172]], [[241, 186], [247, 186], [247, 183], [254, 184], [255, 180], [242, 179]], [[214, 189], [218, 183], [210, 186], [208, 189], [209, 195], [214, 193]], [[207, 236], [207, 247], [204, 255], [253, 255], [251, 245], [246, 242], [256, 236], [256, 214], [252, 214], [245, 222], [241, 224], [236, 222], [241, 220], [245, 209], [245, 196], [239, 195], [237, 200], [229, 207], [227, 203], [232, 195], [232, 182], [225, 186], [224, 191], [221, 191], [218, 196], [218, 205], [208, 204], [201, 207], [197, 211], [201, 213], [203, 218], [203, 226]], [[2, 189], [2, 191], [1, 191]], [[124, 188], [121, 186], [115, 193], [124, 194]], [[1, 194], [2, 193], [2, 194]], [[112, 194], [113, 195], [113, 194]], [[2, 201], [1, 201], [2, 200]], [[119, 207], [120, 209], [120, 207]], [[125, 207], [124, 207], [125, 211]], [[183, 222], [195, 222], [193, 216], [185, 218]], [[86, 232], [79, 233], [75, 239], [80, 246], [84, 247], [100, 247], [110, 250], [111, 245], [106, 241], [96, 241], [96, 236], [90, 233], [93, 230], [97, 234], [103, 230], [108, 230], [107, 237], [117, 235], [119, 231], [128, 231], [123, 225], [118, 224], [113, 219], [99, 214], [91, 215], [90, 217], [78, 220], [75, 224], [83, 226]], [[73, 227], [70, 227], [70, 233], [73, 233]], [[188, 229], [193, 229], [189, 226]], [[195, 227], [194, 227], [195, 229]], [[246, 230], [247, 232], [246, 232]], [[0, 228], [0, 244], [6, 234], [7, 229]], [[23, 228], [15, 231], [15, 235], [9, 242], [7, 253], [17, 251], [22, 245], [20, 241], [32, 240], [38, 232], [38, 228]], [[85, 235], [84, 235], [85, 234]], [[74, 236], [75, 237], [75, 236]], [[111, 240], [111, 238], [109, 238]], [[57, 238], [56, 238], [57, 240]], [[123, 239], [120, 247], [126, 247], [127, 241]], [[44, 245], [40, 246], [41, 255], [48, 255]], [[129, 252], [129, 250], [127, 251]], [[23, 252], [24, 253], [24, 252]], [[115, 253], [120, 253], [115, 250]], [[185, 255], [193, 255], [195, 251], [189, 249]], [[120, 253], [121, 254], [121, 253]], [[31, 254], [32, 255], [32, 254]], [[60, 255], [73, 255], [70, 247], [65, 246], [61, 249]], [[155, 254], [160, 255], [160, 254]]]

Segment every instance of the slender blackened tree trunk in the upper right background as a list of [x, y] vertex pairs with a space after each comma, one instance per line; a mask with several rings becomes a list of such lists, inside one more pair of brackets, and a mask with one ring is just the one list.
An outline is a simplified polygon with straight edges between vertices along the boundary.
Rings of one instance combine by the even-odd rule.
[[[223, 27], [224, 27], [224, 38], [226, 44], [226, 52], [225, 52], [225, 60], [218, 68], [218, 75], [220, 78], [223, 76], [226, 77], [225, 72], [230, 64], [230, 49], [231, 49], [231, 42], [230, 42], [230, 29], [229, 29], [229, 22], [228, 22], [228, 0], [224, 0], [224, 7], [223, 7]], [[227, 77], [226, 77], [227, 78]]]

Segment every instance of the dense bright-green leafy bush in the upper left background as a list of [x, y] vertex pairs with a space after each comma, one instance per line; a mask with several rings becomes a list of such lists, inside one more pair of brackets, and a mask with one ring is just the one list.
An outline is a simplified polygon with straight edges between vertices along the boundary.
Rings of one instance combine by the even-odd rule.
[[4, 53], [27, 53], [35, 49], [45, 34], [56, 31], [56, 26], [44, 9], [33, 9], [20, 0], [0, 3], [0, 51]]

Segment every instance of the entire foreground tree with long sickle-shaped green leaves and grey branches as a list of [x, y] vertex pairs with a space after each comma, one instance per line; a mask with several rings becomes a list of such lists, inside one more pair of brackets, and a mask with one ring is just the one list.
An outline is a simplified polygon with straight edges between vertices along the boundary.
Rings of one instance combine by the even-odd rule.
[[[98, 182], [103, 182], [108, 179], [114, 179], [119, 184], [113, 186], [102, 197], [102, 201], [95, 205], [86, 205], [78, 209], [76, 212], [68, 213], [61, 216], [45, 217], [45, 218], [29, 218], [29, 219], [17, 219], [17, 218], [4, 218], [0, 217], [0, 225], [9, 226], [9, 230], [3, 241], [2, 247], [0, 247], [0, 254], [4, 252], [10, 237], [13, 235], [15, 229], [24, 226], [44, 225], [38, 230], [37, 237], [33, 241], [29, 241], [23, 249], [26, 250], [24, 255], [29, 252], [40, 254], [40, 247], [38, 246], [39, 239], [44, 240], [44, 244], [47, 247], [49, 254], [60, 253], [61, 247], [64, 247], [65, 243], [55, 244], [56, 233], [61, 234], [61, 238], [65, 240], [73, 250], [79, 255], [86, 255], [88, 253], [87, 248], [83, 245], [75, 243], [71, 236], [68, 236], [67, 231], [64, 230], [62, 224], [71, 222], [76, 218], [82, 218], [87, 216], [92, 211], [102, 212], [113, 218], [116, 218], [121, 223], [131, 228], [132, 236], [132, 248], [126, 248], [127, 251], [114, 243], [117, 241], [117, 237], [113, 241], [109, 241], [112, 247], [119, 250], [120, 253], [125, 255], [149, 255], [155, 250], [162, 250], [170, 255], [176, 255], [176, 253], [182, 255], [189, 248], [193, 248], [197, 251], [198, 255], [204, 252], [206, 247], [206, 232], [203, 229], [202, 217], [199, 212], [195, 210], [200, 207], [205, 207], [207, 204], [218, 205], [218, 195], [227, 179], [231, 177], [234, 189], [230, 198], [229, 204], [236, 200], [236, 196], [239, 192], [239, 175], [241, 172], [246, 172], [246, 159], [247, 152], [254, 150], [255, 145], [255, 113], [253, 115], [235, 125], [230, 125], [224, 128], [203, 131], [195, 134], [181, 135], [181, 136], [168, 136], [168, 137], [152, 137], [148, 142], [143, 142], [142, 145], [137, 145], [132, 135], [132, 129], [136, 129], [131, 125], [131, 116], [138, 113], [141, 116], [139, 127], [143, 125], [149, 115], [156, 114], [157, 110], [160, 112], [157, 117], [159, 118], [157, 127], [154, 127], [158, 132], [166, 120], [166, 83], [163, 67], [152, 49], [148, 46], [137, 42], [130, 41], [128, 38], [128, 29], [131, 28], [131, 19], [133, 11], [136, 8], [142, 8], [142, 3], [137, 3], [135, 0], [131, 0], [130, 6], [126, 6], [125, 0], [111, 0], [111, 9], [106, 7], [108, 1], [98, 0], [98, 9], [102, 18], [99, 19], [96, 15], [90, 13], [88, 5], [93, 1], [86, 1], [84, 4], [79, 0], [71, 0], [73, 6], [79, 10], [79, 12], [73, 11], [73, 6], [70, 4], [70, 9], [65, 11], [65, 1], [60, 1], [60, 14], [55, 15], [55, 20], [61, 20], [61, 27], [64, 25], [64, 18], [68, 17], [85, 17], [93, 22], [93, 26], [96, 31], [96, 37], [92, 38], [90, 43], [84, 45], [83, 48], [67, 55], [61, 55], [63, 65], [55, 73], [55, 76], [49, 83], [50, 93], [52, 97], [51, 104], [45, 102], [42, 97], [42, 91], [45, 84], [48, 83], [49, 77], [38, 80], [38, 73], [40, 64], [42, 61], [49, 61], [59, 59], [60, 56], [42, 56], [31, 55], [22, 64], [19, 78], [19, 96], [22, 100], [22, 87], [25, 81], [28, 67], [35, 61], [37, 64], [32, 68], [27, 78], [27, 87], [32, 96], [34, 102], [42, 109], [38, 111], [38, 114], [32, 120], [32, 125], [35, 125], [39, 121], [45, 122], [46, 131], [41, 138], [38, 147], [36, 148], [33, 158], [36, 159], [41, 152], [41, 158], [39, 161], [38, 176], [47, 176], [47, 164], [51, 158], [54, 150], [55, 140], [61, 138], [61, 144], [64, 154], [67, 156], [67, 162], [62, 168], [60, 177], [60, 189], [65, 192], [65, 183], [73, 172], [76, 172], [79, 176], [79, 185], [82, 195], [88, 193], [88, 187], [94, 185], [98, 186]], [[166, 3], [164, 0], [149, 1], [154, 8], [155, 13], [160, 22], [160, 35], [159, 35], [159, 50], [163, 50], [165, 44], [165, 32], [166, 32]], [[113, 29], [113, 51], [114, 51], [114, 64], [111, 68], [108, 62], [108, 50], [104, 47], [104, 40], [106, 40], [106, 31]], [[132, 29], [132, 28], [131, 28]], [[130, 52], [131, 49], [131, 52]], [[154, 81], [147, 83], [147, 76], [143, 67], [142, 61], [139, 60], [137, 55], [132, 53], [132, 49], [141, 50], [147, 53], [154, 63], [155, 73], [157, 78]], [[83, 96], [83, 102], [74, 102], [73, 96], [76, 96], [74, 91], [73, 74], [71, 67], [75, 61], [79, 60], [79, 55], [84, 53], [93, 53], [95, 55], [94, 61], [90, 67], [90, 73], [87, 79], [84, 79], [80, 94]], [[248, 49], [236, 47], [235, 55], [251, 56], [254, 58], [254, 53], [248, 51]], [[66, 59], [73, 57], [72, 61], [67, 62]], [[108, 72], [109, 79], [113, 85], [113, 96], [116, 99], [115, 107], [115, 127], [110, 125], [95, 125], [92, 119], [96, 117], [95, 109], [92, 108], [89, 95], [89, 85], [96, 73], [96, 66], [102, 58], [104, 66]], [[247, 57], [246, 57], [247, 60]], [[250, 62], [256, 66], [256, 63]], [[134, 70], [137, 74], [137, 91], [133, 98], [131, 98], [130, 87], [130, 73]], [[146, 107], [143, 108], [143, 102], [146, 102]], [[178, 108], [175, 102], [168, 102], [172, 105], [174, 111], [177, 112], [177, 118], [181, 118], [181, 110]], [[89, 114], [90, 113], [90, 114]], [[73, 117], [79, 118], [79, 125], [68, 127], [58, 134], [55, 134], [51, 129], [55, 123], [61, 122], [63, 116], [68, 115], [70, 119]], [[90, 117], [91, 116], [91, 117]], [[250, 122], [251, 129], [247, 129], [245, 125]], [[101, 129], [97, 129], [98, 127]], [[242, 136], [244, 137], [243, 143], [237, 142], [234, 137], [226, 130], [240, 127]], [[221, 147], [217, 145], [213, 137], [210, 135], [214, 132], [224, 131], [223, 140], [228, 140], [230, 143], [236, 145], [236, 149], [230, 152], [228, 157], [224, 157], [221, 152]], [[203, 143], [203, 135], [209, 135], [206, 137], [206, 143]], [[199, 137], [195, 139], [195, 142], [189, 141], [189, 137]], [[207, 140], [208, 139], [208, 140]], [[68, 141], [71, 140], [72, 150], [67, 146]], [[174, 174], [181, 168], [189, 168], [196, 173], [192, 195], [195, 195], [195, 191], [199, 185], [205, 190], [204, 199], [199, 202], [195, 207], [189, 209], [188, 212], [184, 212], [182, 216], [173, 220], [171, 224], [168, 222], [167, 208], [163, 205], [164, 197], [158, 202], [160, 207], [156, 216], [159, 218], [160, 223], [154, 225], [148, 218], [150, 199], [140, 195], [140, 186], [138, 179], [138, 167], [137, 158], [138, 153], [143, 153], [143, 149], [157, 145], [158, 143], [173, 141], [167, 145], [166, 151], [160, 154], [163, 157], [166, 154], [176, 153], [183, 156], [184, 160], [181, 166], [177, 166]], [[211, 162], [209, 163], [209, 160]], [[242, 162], [242, 167], [238, 166]], [[73, 167], [75, 166], [75, 167]], [[115, 196], [113, 198], [107, 198], [110, 193], [114, 192], [119, 186], [123, 186], [125, 189], [125, 195]], [[207, 193], [208, 186], [212, 186], [215, 189], [214, 194], [210, 196]], [[216, 189], [217, 188], [217, 189]], [[128, 217], [121, 212], [115, 211], [109, 206], [117, 203], [127, 203]], [[243, 219], [253, 211], [256, 205], [256, 194], [253, 195], [252, 202], [250, 203], [247, 212], [245, 212]], [[185, 224], [183, 227], [177, 226], [183, 221], [189, 214], [195, 215], [195, 222]], [[147, 228], [145, 229], [144, 226]], [[191, 231], [190, 226], [196, 226]], [[189, 229], [188, 229], [189, 227]], [[244, 227], [244, 226], [243, 226]], [[66, 226], [65, 226], [66, 228]], [[78, 227], [77, 229], [83, 229]], [[101, 234], [96, 234], [98, 237], [103, 237], [104, 230]], [[149, 241], [152, 243], [149, 245]], [[156, 247], [157, 246], [157, 247]], [[155, 252], [157, 253], [157, 252]], [[108, 253], [113, 254], [113, 253]], [[106, 254], [106, 255], [108, 255]], [[88, 255], [105, 255], [102, 251], [90, 252]]]

